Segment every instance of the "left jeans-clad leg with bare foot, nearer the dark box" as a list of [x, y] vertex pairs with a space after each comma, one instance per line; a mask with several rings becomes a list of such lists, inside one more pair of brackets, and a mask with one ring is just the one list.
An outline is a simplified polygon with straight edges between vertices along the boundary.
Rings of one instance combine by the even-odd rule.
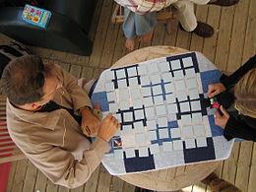
[[126, 37], [125, 47], [129, 50], [133, 50], [135, 46], [135, 13], [130, 11], [128, 8], [124, 8], [124, 21], [123, 21], [123, 32]]

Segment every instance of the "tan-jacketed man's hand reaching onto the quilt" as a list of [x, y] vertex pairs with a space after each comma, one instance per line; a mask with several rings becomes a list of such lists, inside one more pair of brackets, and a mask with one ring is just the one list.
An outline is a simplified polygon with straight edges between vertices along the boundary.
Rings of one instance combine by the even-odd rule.
[[120, 123], [118, 123], [117, 119], [112, 114], [108, 114], [103, 118], [97, 136], [102, 140], [109, 142], [119, 128]]

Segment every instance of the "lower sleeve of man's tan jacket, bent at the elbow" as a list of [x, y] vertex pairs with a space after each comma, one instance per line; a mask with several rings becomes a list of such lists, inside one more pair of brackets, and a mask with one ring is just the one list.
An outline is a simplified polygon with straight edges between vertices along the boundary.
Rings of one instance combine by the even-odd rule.
[[91, 149], [84, 151], [80, 161], [75, 160], [71, 153], [53, 146], [26, 155], [55, 184], [76, 188], [87, 182], [109, 149], [107, 142], [97, 138]]

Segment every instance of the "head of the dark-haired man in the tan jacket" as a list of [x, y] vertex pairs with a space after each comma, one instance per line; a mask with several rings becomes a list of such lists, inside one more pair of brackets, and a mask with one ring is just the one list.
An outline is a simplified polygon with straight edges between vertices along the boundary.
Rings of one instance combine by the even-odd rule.
[[59, 88], [58, 79], [38, 56], [26, 55], [11, 61], [4, 69], [1, 90], [18, 105], [36, 109], [48, 102]]

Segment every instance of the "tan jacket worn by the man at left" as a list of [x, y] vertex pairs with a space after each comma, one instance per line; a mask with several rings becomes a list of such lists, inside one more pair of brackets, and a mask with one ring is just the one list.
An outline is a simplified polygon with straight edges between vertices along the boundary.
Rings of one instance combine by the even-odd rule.
[[[85, 105], [91, 106], [88, 94], [77, 85], [77, 79], [59, 66], [52, 67], [62, 82], [62, 88], [53, 100], [74, 111]], [[110, 149], [108, 143], [99, 138], [91, 144], [77, 121], [64, 109], [32, 112], [19, 109], [7, 100], [6, 110], [11, 138], [56, 184], [68, 188], [84, 184]]]

